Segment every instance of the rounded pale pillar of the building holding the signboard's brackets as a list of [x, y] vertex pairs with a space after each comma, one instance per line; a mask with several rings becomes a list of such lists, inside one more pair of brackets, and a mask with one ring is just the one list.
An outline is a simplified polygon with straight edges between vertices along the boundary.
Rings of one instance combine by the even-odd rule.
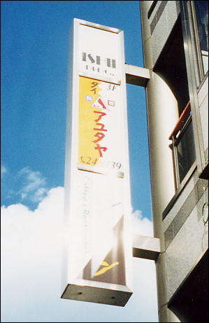
[[168, 140], [176, 121], [178, 104], [168, 85], [153, 72], [150, 22], [147, 11], [152, 1], [140, 1], [145, 68], [150, 69], [147, 83], [147, 125], [150, 151], [150, 177], [152, 191], [152, 217], [154, 237], [161, 242], [162, 253], [156, 261], [159, 322], [180, 322], [168, 310], [166, 284], [166, 254], [162, 212], [175, 193], [172, 151]]

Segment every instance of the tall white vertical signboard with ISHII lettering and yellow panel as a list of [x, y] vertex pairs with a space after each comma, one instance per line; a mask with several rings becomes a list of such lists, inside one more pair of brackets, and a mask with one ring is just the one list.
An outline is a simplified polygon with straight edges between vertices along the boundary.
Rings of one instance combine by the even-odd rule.
[[124, 306], [132, 240], [123, 32], [74, 19], [62, 298]]

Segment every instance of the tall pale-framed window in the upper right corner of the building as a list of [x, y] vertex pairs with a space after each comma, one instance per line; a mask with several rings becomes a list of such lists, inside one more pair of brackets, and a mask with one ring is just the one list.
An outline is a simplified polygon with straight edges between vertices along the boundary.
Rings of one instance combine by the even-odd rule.
[[[207, 165], [199, 90], [208, 77], [208, 1], [178, 1], [191, 102], [196, 166], [199, 177]], [[193, 167], [192, 167], [193, 168]]]

